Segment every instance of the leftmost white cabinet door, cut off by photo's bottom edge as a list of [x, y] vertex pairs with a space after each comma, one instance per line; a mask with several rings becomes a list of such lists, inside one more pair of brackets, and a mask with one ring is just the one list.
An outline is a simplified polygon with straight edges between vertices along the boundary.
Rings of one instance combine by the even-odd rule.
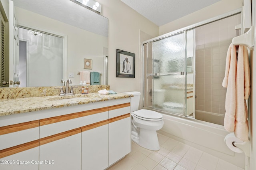
[[0, 158], [0, 170], [38, 170], [39, 148], [31, 148]]

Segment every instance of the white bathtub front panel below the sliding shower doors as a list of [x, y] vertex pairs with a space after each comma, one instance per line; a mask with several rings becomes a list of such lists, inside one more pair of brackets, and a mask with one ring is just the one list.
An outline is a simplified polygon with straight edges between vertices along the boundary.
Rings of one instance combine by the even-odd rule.
[[226, 146], [224, 138], [229, 132], [223, 126], [176, 115], [162, 115], [164, 126], [158, 133], [244, 168], [244, 153], [235, 153]]

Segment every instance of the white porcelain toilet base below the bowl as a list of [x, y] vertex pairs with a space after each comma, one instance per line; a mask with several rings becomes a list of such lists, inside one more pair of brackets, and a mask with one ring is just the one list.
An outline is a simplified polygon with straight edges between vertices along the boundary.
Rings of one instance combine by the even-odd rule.
[[154, 151], [160, 150], [156, 130], [147, 130], [147, 129], [140, 128], [140, 132], [138, 136], [132, 133], [132, 141], [142, 146], [143, 148], [146, 148], [149, 150], [154, 150]]

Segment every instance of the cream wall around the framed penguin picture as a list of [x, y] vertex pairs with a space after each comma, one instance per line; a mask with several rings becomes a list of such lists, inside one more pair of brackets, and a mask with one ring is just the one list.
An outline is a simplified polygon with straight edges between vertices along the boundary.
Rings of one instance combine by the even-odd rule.
[[[97, 0], [102, 4], [102, 15], [108, 18], [108, 84], [117, 92], [139, 91], [140, 40], [139, 31], [152, 37], [158, 36], [159, 28], [132, 10], [120, 0]], [[135, 53], [135, 78], [116, 77], [116, 49]]]

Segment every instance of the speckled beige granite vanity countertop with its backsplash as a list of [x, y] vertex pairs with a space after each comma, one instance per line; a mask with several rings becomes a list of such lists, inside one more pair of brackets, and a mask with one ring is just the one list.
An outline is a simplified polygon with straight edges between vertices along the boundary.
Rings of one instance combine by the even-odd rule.
[[59, 96], [60, 89], [55, 87], [0, 88], [0, 117], [133, 96], [124, 93], [99, 95], [98, 91], [109, 90], [109, 85], [91, 85], [88, 88], [89, 94], [81, 94], [81, 86], [78, 86], [74, 88], [75, 95], [68, 96]]

